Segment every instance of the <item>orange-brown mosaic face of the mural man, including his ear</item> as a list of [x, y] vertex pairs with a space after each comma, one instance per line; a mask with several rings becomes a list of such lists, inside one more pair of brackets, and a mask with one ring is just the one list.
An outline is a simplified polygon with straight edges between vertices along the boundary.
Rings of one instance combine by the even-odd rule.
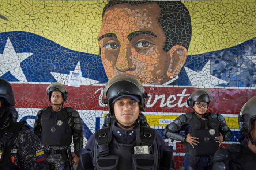
[[108, 78], [127, 72], [145, 84], [163, 84], [178, 75], [187, 50], [181, 45], [163, 50], [166, 36], [158, 23], [160, 10], [157, 3], [106, 9], [98, 41]]

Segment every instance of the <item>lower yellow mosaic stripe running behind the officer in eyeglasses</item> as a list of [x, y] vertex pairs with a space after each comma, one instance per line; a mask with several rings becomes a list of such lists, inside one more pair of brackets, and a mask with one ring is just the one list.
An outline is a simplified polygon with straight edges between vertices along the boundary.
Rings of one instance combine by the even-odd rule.
[[[148, 121], [149, 126], [166, 126], [167, 124], [159, 124], [160, 119], [176, 119], [178, 116], [169, 116], [169, 115], [145, 115]], [[172, 122], [169, 120], [168, 122]], [[239, 129], [238, 118], [225, 117], [227, 126], [230, 129]]]

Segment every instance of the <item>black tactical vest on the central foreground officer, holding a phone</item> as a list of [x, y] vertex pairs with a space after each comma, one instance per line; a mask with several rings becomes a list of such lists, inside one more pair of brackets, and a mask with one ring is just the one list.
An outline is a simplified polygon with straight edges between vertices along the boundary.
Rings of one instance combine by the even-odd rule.
[[[135, 132], [136, 140], [132, 144], [122, 144], [112, 137], [111, 127], [97, 130], [94, 150], [95, 169], [157, 170], [158, 150], [155, 142], [155, 130], [140, 126], [140, 129], [135, 129]], [[134, 154], [135, 146], [150, 146], [150, 153]]]

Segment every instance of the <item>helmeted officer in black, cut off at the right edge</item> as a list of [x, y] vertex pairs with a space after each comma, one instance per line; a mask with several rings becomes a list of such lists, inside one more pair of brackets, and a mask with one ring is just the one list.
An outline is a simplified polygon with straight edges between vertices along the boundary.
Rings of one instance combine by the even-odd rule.
[[256, 166], [256, 96], [242, 107], [238, 116], [241, 144], [232, 144], [214, 154], [214, 170], [251, 170]]

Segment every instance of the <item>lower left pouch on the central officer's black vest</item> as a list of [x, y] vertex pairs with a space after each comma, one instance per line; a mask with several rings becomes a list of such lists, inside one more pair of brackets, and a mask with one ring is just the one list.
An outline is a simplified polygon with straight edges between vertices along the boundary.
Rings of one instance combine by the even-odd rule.
[[98, 157], [97, 170], [117, 170], [118, 155], [106, 155], [104, 157]]

